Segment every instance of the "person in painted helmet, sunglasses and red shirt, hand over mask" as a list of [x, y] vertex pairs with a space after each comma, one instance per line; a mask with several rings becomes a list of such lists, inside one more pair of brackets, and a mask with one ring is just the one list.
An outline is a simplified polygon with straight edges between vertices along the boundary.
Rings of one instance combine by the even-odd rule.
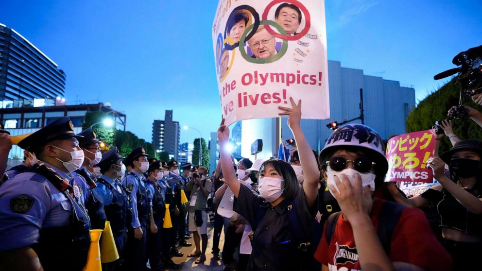
[[341, 126], [327, 139], [319, 160], [341, 212], [327, 219], [315, 258], [323, 271], [450, 270], [450, 256], [420, 210], [373, 197], [388, 170], [383, 146], [361, 124]]

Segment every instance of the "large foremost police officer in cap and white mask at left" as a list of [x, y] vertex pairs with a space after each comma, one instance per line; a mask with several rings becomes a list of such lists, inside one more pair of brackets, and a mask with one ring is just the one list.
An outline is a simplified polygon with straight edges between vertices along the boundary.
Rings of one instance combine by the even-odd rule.
[[70, 185], [70, 173], [84, 162], [79, 137], [63, 117], [18, 143], [40, 164], [0, 187], [0, 270], [80, 271], [86, 265], [89, 219]]

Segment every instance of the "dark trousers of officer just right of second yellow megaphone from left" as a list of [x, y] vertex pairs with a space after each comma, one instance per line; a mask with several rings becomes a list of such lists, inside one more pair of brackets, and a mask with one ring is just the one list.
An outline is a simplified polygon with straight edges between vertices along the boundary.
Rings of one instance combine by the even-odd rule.
[[129, 228], [127, 243], [125, 245], [125, 269], [126, 271], [145, 271], [146, 266], [146, 241], [147, 241], [147, 221], [141, 221], [141, 229], [144, 233], [142, 238], [134, 238], [134, 229]]

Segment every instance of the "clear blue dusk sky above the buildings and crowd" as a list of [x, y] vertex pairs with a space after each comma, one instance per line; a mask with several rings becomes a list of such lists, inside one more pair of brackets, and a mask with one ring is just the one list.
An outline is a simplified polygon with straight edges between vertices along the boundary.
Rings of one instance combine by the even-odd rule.
[[[211, 27], [217, 0], [4, 0], [0, 23], [67, 74], [68, 104], [110, 102], [127, 130], [152, 140], [166, 109], [209, 138], [221, 119]], [[417, 100], [448, 79], [433, 75], [482, 44], [482, 1], [326, 0], [328, 59], [413, 85]], [[192, 143], [196, 131], [181, 131]]]

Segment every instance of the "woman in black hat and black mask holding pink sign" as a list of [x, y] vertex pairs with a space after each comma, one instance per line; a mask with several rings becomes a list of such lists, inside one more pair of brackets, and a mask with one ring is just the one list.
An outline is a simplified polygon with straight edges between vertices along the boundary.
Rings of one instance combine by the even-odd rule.
[[[452, 255], [454, 270], [480, 269], [482, 255], [482, 142], [458, 141], [440, 157], [430, 157], [428, 167], [440, 185], [407, 199], [392, 184], [389, 190], [399, 203], [422, 207], [437, 204], [445, 248]], [[444, 174], [448, 164], [449, 176]]]

